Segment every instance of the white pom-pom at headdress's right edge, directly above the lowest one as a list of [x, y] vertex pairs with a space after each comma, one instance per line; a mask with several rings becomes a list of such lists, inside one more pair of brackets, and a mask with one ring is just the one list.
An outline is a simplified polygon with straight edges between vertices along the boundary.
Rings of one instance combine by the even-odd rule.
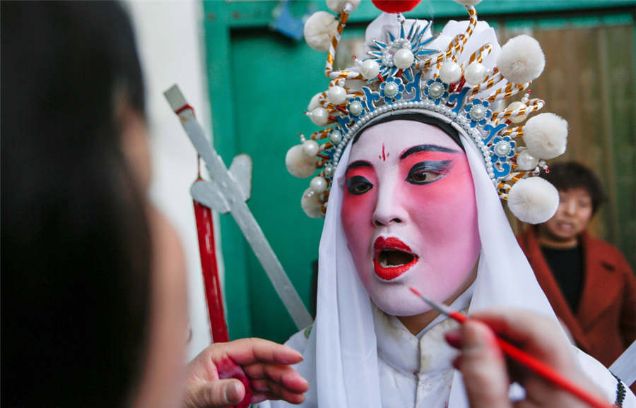
[[563, 155], [567, 145], [567, 121], [552, 114], [538, 114], [524, 126], [524, 142], [534, 157], [553, 159]]

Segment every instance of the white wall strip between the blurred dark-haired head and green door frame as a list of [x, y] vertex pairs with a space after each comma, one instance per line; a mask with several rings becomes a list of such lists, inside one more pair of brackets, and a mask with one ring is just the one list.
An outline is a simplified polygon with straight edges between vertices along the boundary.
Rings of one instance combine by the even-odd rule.
[[[196, 177], [196, 151], [177, 116], [168, 107], [163, 91], [177, 83], [194, 107], [199, 121], [211, 134], [202, 52], [203, 7], [200, 1], [140, 0], [129, 0], [127, 6], [136, 29], [141, 64], [146, 75], [153, 155], [151, 198], [176, 227], [187, 258], [192, 327], [188, 355], [192, 358], [210, 342], [199, 244], [189, 195], [189, 188]], [[216, 241], [220, 241], [218, 234]], [[220, 251], [217, 253], [220, 255]]]

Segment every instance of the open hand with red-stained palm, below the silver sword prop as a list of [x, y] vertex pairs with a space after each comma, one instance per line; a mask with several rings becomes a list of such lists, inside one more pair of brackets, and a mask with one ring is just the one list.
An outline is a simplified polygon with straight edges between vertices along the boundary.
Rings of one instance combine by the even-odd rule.
[[184, 408], [247, 407], [264, 400], [300, 404], [309, 384], [290, 364], [294, 349], [263, 339], [212, 344], [188, 366]]

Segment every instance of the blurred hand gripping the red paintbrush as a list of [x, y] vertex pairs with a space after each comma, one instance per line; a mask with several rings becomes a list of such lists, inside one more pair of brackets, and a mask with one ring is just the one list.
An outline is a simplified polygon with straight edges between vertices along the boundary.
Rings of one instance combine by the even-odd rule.
[[[569, 392], [507, 360], [497, 345], [495, 332], [605, 400], [601, 390], [579, 368], [572, 346], [557, 323], [528, 311], [493, 310], [471, 315], [464, 325], [446, 334], [447, 342], [461, 352], [453, 365], [464, 377], [472, 408], [588, 407]], [[512, 381], [526, 390], [525, 399], [514, 404], [508, 399]]]

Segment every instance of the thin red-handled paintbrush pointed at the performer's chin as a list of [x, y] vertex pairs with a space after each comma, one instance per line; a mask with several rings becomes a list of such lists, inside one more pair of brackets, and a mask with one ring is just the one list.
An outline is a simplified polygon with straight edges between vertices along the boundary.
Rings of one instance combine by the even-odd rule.
[[[457, 320], [459, 323], [464, 323], [466, 319], [468, 319], [463, 314], [453, 311], [451, 308], [449, 308], [448, 306], [444, 304], [438, 304], [435, 301], [427, 299], [425, 296], [420, 294], [420, 292], [417, 289], [413, 287], [409, 287], [408, 289], [411, 289], [411, 292], [418, 295], [420, 299], [422, 299], [428, 304], [428, 306], [434, 308], [436, 311], [442, 313], [443, 315], [449, 316], [449, 318]], [[523, 364], [524, 366], [529, 368], [531, 371], [534, 371], [535, 373], [537, 373], [539, 376], [546, 378], [546, 380], [550, 381], [551, 383], [557, 385], [560, 388], [563, 388], [563, 390], [570, 392], [570, 394], [579, 398], [579, 400], [582, 400], [583, 402], [586, 402], [587, 404], [591, 405], [591, 407], [595, 407], [595, 408], [612, 408], [613, 407], [612, 404], [609, 404], [608, 402], [603, 402], [599, 400], [597, 397], [590, 395], [589, 392], [586, 392], [583, 388], [579, 387], [575, 383], [572, 383], [570, 380], [562, 376], [560, 373], [555, 371], [550, 366], [543, 364], [541, 361], [538, 361], [530, 354], [527, 354], [526, 352], [523, 352], [521, 349], [514, 347], [509, 342], [497, 337], [497, 344], [499, 344], [499, 347], [502, 349], [502, 352], [504, 352], [507, 356]]]

